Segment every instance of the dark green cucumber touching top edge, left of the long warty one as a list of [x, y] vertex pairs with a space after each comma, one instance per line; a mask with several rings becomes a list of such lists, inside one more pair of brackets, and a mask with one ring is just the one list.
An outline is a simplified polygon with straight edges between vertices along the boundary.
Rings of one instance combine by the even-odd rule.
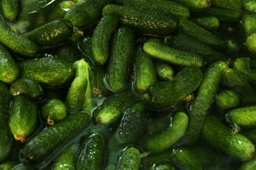
[[112, 0], [81, 1], [70, 8], [64, 18], [70, 20], [74, 27], [87, 27], [100, 20], [103, 7], [109, 3]]

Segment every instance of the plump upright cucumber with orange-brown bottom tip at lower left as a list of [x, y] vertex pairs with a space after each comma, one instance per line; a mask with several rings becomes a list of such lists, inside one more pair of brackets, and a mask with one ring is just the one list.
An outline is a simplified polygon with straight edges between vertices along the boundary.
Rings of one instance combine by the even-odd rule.
[[38, 106], [24, 95], [12, 98], [9, 126], [14, 139], [22, 143], [39, 127]]

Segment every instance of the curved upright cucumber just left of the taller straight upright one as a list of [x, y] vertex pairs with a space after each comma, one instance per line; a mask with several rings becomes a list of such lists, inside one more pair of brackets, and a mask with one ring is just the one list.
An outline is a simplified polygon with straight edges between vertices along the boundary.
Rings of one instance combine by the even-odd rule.
[[114, 15], [103, 16], [93, 31], [93, 57], [95, 60], [104, 64], [110, 54], [110, 37], [117, 28], [119, 18]]

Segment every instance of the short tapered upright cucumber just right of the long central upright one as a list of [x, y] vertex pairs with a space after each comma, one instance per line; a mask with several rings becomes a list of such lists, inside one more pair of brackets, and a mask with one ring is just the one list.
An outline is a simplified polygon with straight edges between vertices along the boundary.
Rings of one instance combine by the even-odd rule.
[[133, 84], [139, 93], [144, 93], [148, 87], [156, 83], [156, 69], [150, 56], [137, 49], [133, 59]]

